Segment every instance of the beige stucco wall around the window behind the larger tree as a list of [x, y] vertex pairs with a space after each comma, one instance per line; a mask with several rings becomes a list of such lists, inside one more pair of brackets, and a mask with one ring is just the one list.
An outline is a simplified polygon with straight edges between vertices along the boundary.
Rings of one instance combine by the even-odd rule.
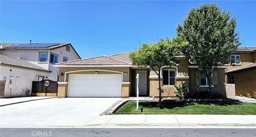
[[[202, 88], [195, 85], [195, 70], [193, 68], [189, 68], [189, 94], [191, 96], [198, 91], [207, 91], [208, 88]], [[225, 89], [225, 69], [217, 69], [218, 70], [218, 85], [214, 85], [212, 88], [213, 92], [221, 93], [224, 97], [226, 97], [226, 89]]]

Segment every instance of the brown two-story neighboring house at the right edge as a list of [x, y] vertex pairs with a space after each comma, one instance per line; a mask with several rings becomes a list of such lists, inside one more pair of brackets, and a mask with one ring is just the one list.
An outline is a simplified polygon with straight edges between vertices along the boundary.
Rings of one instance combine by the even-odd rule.
[[226, 75], [236, 92], [246, 95], [256, 91], [256, 47], [241, 47], [230, 55]]

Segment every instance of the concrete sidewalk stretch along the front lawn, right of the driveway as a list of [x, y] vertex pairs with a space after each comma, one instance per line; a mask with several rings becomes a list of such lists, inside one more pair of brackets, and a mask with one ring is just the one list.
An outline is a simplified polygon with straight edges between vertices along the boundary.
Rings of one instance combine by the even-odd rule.
[[256, 128], [256, 115], [108, 115], [84, 126], [246, 126]]

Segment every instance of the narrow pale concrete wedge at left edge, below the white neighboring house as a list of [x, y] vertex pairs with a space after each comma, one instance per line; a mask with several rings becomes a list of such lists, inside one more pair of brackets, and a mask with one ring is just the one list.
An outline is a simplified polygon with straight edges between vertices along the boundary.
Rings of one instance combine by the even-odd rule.
[[35, 96], [35, 97], [16, 97], [16, 98], [0, 98], [0, 107], [18, 104], [21, 102], [48, 99], [48, 98], [57, 98], [55, 96]]

